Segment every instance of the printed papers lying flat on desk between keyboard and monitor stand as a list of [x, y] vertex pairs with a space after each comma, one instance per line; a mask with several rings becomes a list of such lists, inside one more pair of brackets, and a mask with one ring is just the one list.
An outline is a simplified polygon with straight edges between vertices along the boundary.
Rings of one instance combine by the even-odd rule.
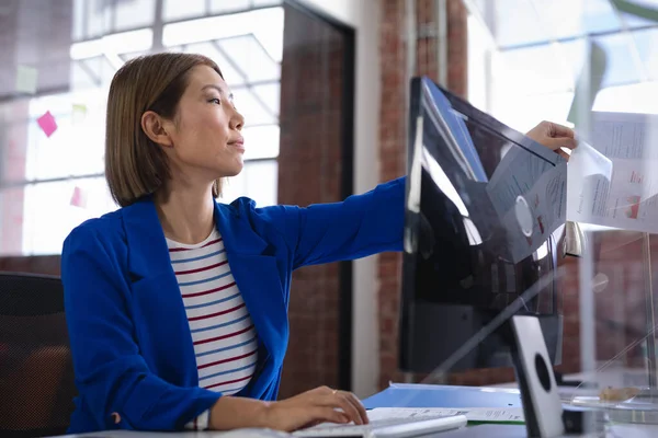
[[439, 415], [465, 415], [468, 423], [524, 423], [522, 407], [376, 407], [367, 412], [367, 417], [371, 420], [383, 418], [421, 418]]

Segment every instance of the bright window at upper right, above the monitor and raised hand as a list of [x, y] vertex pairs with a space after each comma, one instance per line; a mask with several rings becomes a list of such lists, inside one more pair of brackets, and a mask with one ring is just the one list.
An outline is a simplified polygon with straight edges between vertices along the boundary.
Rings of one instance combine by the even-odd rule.
[[[524, 131], [543, 119], [568, 123], [591, 45], [599, 57], [593, 78], [601, 79], [593, 110], [658, 112], [653, 104], [658, 64], [651, 53], [658, 23], [617, 12], [609, 0], [466, 4], [469, 100], [511, 127]], [[605, 68], [597, 71], [601, 59]]]

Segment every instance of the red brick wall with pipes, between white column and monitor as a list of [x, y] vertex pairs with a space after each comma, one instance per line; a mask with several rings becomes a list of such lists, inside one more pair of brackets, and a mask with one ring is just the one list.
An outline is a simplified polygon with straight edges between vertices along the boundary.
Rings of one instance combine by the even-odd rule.
[[[406, 169], [407, 145], [407, 50], [416, 49], [413, 76], [427, 74], [438, 80], [438, 24], [434, 1], [416, 2], [417, 39], [408, 44], [405, 30], [405, 0], [383, 0], [379, 31], [382, 67], [382, 106], [379, 113], [379, 180], [400, 176]], [[447, 1], [447, 84], [462, 96], [466, 95], [467, 13], [461, 0]], [[379, 387], [390, 380], [400, 381], [398, 364], [398, 318], [400, 290], [400, 254], [382, 254], [378, 261], [379, 281]]]

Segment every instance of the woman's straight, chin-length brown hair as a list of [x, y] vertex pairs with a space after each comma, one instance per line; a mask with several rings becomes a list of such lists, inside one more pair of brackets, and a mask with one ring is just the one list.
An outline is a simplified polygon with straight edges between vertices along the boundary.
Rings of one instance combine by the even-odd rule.
[[[152, 194], [169, 178], [167, 155], [141, 129], [141, 115], [154, 111], [173, 118], [196, 66], [208, 66], [222, 77], [219, 67], [205, 56], [172, 53], [132, 59], [114, 74], [107, 96], [105, 178], [120, 206]], [[213, 196], [220, 193], [217, 180]]]

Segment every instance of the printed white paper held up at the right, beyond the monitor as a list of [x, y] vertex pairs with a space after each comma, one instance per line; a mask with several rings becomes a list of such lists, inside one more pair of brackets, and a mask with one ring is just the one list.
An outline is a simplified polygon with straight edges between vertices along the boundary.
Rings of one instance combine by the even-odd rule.
[[594, 113], [590, 137], [569, 160], [567, 220], [658, 232], [658, 116]]

